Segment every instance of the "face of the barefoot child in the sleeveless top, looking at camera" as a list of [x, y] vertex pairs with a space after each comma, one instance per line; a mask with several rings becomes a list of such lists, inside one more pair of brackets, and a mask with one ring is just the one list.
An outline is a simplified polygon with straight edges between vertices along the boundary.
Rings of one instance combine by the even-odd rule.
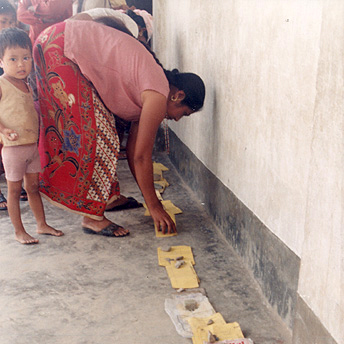
[[25, 79], [31, 72], [32, 55], [28, 48], [6, 48], [0, 61], [4, 73], [12, 78]]

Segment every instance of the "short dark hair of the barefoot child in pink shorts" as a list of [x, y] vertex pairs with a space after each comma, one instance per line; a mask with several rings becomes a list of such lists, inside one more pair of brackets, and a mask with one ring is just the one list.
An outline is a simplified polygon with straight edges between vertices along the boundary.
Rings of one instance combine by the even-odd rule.
[[0, 58], [2, 59], [7, 48], [20, 47], [30, 49], [32, 53], [32, 43], [28, 34], [16, 27], [9, 27], [0, 32]]

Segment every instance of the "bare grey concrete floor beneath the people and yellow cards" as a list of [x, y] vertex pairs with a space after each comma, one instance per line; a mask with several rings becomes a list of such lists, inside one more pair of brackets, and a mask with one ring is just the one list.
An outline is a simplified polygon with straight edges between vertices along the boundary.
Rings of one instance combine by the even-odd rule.
[[[48, 223], [62, 229], [61, 238], [40, 236], [38, 245], [13, 239], [7, 212], [0, 212], [1, 344], [184, 344], [164, 310], [174, 290], [158, 266], [157, 247], [189, 245], [195, 270], [209, 301], [227, 322], [238, 322], [255, 344], [290, 344], [290, 332], [262, 297], [251, 274], [227, 244], [166, 155], [155, 161], [170, 170], [163, 198], [183, 210], [179, 234], [156, 238], [143, 208], [107, 213], [131, 230], [125, 238], [90, 236], [81, 217], [45, 204]], [[122, 192], [142, 201], [120, 161]], [[6, 194], [4, 177], [0, 186]], [[35, 222], [21, 203], [29, 233]]]

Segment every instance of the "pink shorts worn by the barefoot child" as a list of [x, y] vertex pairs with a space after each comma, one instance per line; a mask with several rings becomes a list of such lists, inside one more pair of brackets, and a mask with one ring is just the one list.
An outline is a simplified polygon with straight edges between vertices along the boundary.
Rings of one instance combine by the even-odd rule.
[[41, 172], [41, 161], [36, 143], [3, 147], [2, 162], [6, 179], [11, 182], [22, 180], [25, 173]]

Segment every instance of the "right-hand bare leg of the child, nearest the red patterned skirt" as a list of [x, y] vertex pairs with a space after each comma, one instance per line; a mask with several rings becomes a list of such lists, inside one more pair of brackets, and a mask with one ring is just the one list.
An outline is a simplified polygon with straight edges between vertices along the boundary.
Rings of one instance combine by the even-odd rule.
[[28, 195], [30, 208], [36, 218], [37, 233], [62, 236], [62, 231], [49, 226], [45, 221], [44, 207], [41, 195], [39, 194], [38, 173], [26, 173], [24, 177], [25, 190]]

